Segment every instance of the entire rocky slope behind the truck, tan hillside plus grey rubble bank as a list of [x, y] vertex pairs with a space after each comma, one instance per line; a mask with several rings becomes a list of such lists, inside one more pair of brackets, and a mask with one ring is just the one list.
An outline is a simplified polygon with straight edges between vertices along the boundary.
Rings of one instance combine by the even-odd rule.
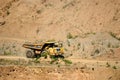
[[[0, 38], [2, 54], [22, 53], [26, 40], [63, 41], [73, 57], [114, 53], [120, 47], [120, 0], [0, 0]], [[18, 51], [3, 49], [17, 43]]]

